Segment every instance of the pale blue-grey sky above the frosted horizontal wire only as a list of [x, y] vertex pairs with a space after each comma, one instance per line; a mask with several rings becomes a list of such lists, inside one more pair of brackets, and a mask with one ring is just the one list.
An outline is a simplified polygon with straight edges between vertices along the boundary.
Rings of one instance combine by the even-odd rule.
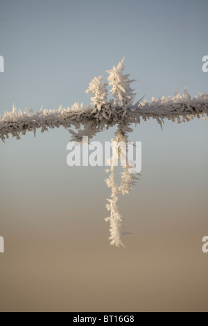
[[206, 92], [207, 10], [207, 0], [1, 0], [0, 114], [13, 102], [35, 111], [89, 104], [89, 80], [107, 78], [123, 55], [138, 98]]

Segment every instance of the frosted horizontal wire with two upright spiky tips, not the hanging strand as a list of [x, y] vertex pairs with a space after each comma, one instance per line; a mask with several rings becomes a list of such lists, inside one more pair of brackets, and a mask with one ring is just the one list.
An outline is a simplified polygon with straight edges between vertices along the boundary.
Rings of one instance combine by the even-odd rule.
[[[124, 58], [123, 58], [124, 60]], [[130, 87], [129, 74], [123, 74], [123, 60], [117, 67], [107, 70], [107, 78], [110, 85], [110, 93], [114, 99], [107, 101], [107, 84], [102, 83], [102, 76], [95, 77], [89, 83], [87, 93], [93, 94], [92, 105], [84, 106], [83, 103], [74, 103], [71, 108], [62, 108], [62, 105], [55, 110], [46, 110], [41, 108], [39, 112], [24, 109], [22, 112], [13, 105], [12, 112], [5, 112], [0, 117], [0, 137], [4, 141], [6, 138], [25, 135], [27, 131], [33, 131], [41, 128], [44, 132], [49, 128], [80, 128], [83, 126], [89, 137], [103, 128], [109, 128], [117, 123], [139, 123], [141, 119], [156, 119], [162, 127], [164, 119], [185, 122], [200, 117], [205, 119], [208, 114], [208, 92], [199, 93], [198, 97], [193, 97], [184, 89], [184, 94], [175, 93], [173, 97], [152, 98], [150, 102], [141, 98], [134, 103], [136, 94]], [[87, 135], [87, 134], [86, 134]]]

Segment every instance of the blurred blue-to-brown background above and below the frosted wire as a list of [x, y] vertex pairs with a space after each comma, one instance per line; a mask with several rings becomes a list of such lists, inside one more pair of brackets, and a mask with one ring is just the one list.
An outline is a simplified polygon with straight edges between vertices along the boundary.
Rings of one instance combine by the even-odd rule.
[[[207, 1], [0, 3], [0, 114], [90, 103], [125, 55], [137, 99], [208, 90]], [[141, 121], [137, 186], [110, 246], [105, 166], [67, 166], [64, 128], [0, 144], [0, 311], [207, 311], [207, 121]], [[116, 127], [94, 140], [110, 141]]]

